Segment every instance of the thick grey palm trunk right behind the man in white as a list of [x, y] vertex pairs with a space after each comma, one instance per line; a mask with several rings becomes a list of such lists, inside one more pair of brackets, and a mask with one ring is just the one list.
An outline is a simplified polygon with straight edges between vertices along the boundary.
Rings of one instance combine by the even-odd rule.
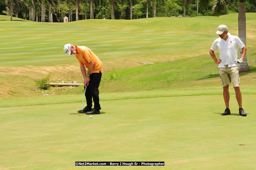
[[[242, 1], [242, 2], [241, 2]], [[245, 17], [245, 3], [244, 0], [240, 0], [238, 8], [238, 37], [246, 46], [246, 17]], [[241, 58], [242, 49], [239, 48], [239, 58]], [[244, 61], [247, 61], [247, 56], [245, 54]], [[248, 63], [241, 63], [239, 65], [239, 72], [249, 71]]]

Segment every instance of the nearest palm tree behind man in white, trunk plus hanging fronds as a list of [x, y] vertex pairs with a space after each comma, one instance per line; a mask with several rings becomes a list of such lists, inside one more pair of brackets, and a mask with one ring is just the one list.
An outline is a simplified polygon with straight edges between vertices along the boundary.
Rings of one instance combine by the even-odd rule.
[[[209, 6], [210, 0], [199, 0], [199, 8], [204, 9]], [[212, 13], [214, 16], [219, 16], [225, 11], [225, 0], [214, 0]], [[245, 0], [240, 0], [238, 9], [238, 37], [246, 46], [246, 17], [245, 17]], [[242, 49], [239, 48], [239, 58], [241, 58]], [[247, 61], [245, 55], [244, 61]], [[249, 71], [248, 63], [241, 63], [239, 65], [239, 72]]]

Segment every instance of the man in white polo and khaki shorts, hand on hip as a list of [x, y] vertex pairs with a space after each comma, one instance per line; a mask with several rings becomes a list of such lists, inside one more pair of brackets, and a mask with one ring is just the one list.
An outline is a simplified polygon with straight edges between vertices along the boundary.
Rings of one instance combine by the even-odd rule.
[[[239, 115], [246, 116], [245, 111], [242, 108], [242, 94], [239, 88], [239, 67], [238, 65], [244, 61], [246, 46], [237, 36], [228, 33], [228, 27], [226, 25], [220, 25], [216, 34], [219, 38], [216, 39], [211, 48], [210, 55], [216, 64], [219, 64], [219, 72], [221, 83], [223, 86], [223, 97], [226, 105], [226, 109], [222, 115], [229, 115], [229, 84], [232, 81], [233, 87], [236, 92], [236, 99], [239, 106]], [[238, 58], [238, 47], [242, 48], [242, 55]], [[217, 60], [214, 51], [219, 50], [220, 59]]]

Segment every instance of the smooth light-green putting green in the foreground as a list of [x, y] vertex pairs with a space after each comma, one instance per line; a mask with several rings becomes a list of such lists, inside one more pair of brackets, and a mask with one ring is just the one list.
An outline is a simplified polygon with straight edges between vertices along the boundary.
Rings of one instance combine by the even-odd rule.
[[243, 95], [247, 117], [239, 116], [234, 95], [228, 116], [221, 116], [222, 95], [102, 101], [102, 114], [92, 118], [76, 112], [82, 103], [0, 108], [0, 169], [78, 169], [75, 161], [165, 161], [121, 169], [254, 169], [255, 98]]

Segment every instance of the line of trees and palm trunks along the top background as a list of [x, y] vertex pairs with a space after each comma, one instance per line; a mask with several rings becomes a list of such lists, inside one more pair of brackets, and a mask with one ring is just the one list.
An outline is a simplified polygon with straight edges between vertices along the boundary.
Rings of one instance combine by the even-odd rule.
[[[138, 19], [151, 17], [196, 17], [238, 12], [239, 0], [222, 0], [214, 14], [216, 0], [0, 0], [0, 14], [38, 22], [82, 19]], [[255, 0], [244, 0], [245, 12], [256, 12]], [[201, 5], [203, 6], [203, 5]]]

